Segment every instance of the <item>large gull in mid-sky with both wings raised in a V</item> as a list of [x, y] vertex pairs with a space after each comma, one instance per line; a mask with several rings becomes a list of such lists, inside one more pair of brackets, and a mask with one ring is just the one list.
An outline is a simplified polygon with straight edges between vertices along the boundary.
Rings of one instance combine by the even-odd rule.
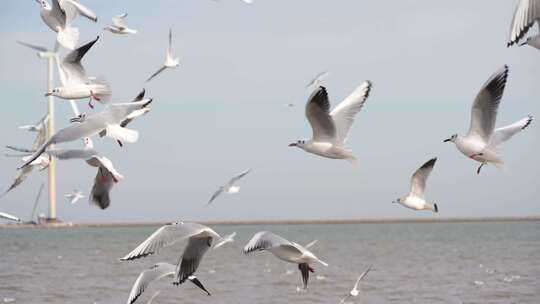
[[313, 129], [312, 139], [298, 140], [289, 147], [326, 158], [346, 159], [353, 164], [356, 157], [345, 148], [347, 135], [371, 91], [371, 82], [365, 81], [330, 112], [330, 101], [325, 87], [318, 87], [306, 104], [306, 117]]

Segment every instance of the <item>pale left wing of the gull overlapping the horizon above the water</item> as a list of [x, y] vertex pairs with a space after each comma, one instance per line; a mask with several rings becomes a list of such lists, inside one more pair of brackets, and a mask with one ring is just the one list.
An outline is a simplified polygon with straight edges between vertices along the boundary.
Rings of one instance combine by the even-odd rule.
[[178, 241], [188, 239], [209, 230], [211, 229], [197, 223], [177, 222], [164, 225], [120, 260], [129, 261], [146, 257], [156, 253], [163, 247], [170, 246]]

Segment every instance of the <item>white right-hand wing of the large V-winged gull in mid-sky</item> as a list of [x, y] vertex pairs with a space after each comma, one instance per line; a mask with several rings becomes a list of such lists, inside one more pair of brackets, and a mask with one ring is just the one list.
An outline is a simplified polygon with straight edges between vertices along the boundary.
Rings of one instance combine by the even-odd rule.
[[336, 126], [336, 141], [338, 143], [344, 143], [347, 140], [354, 117], [364, 106], [370, 91], [371, 82], [365, 81], [330, 113]]

